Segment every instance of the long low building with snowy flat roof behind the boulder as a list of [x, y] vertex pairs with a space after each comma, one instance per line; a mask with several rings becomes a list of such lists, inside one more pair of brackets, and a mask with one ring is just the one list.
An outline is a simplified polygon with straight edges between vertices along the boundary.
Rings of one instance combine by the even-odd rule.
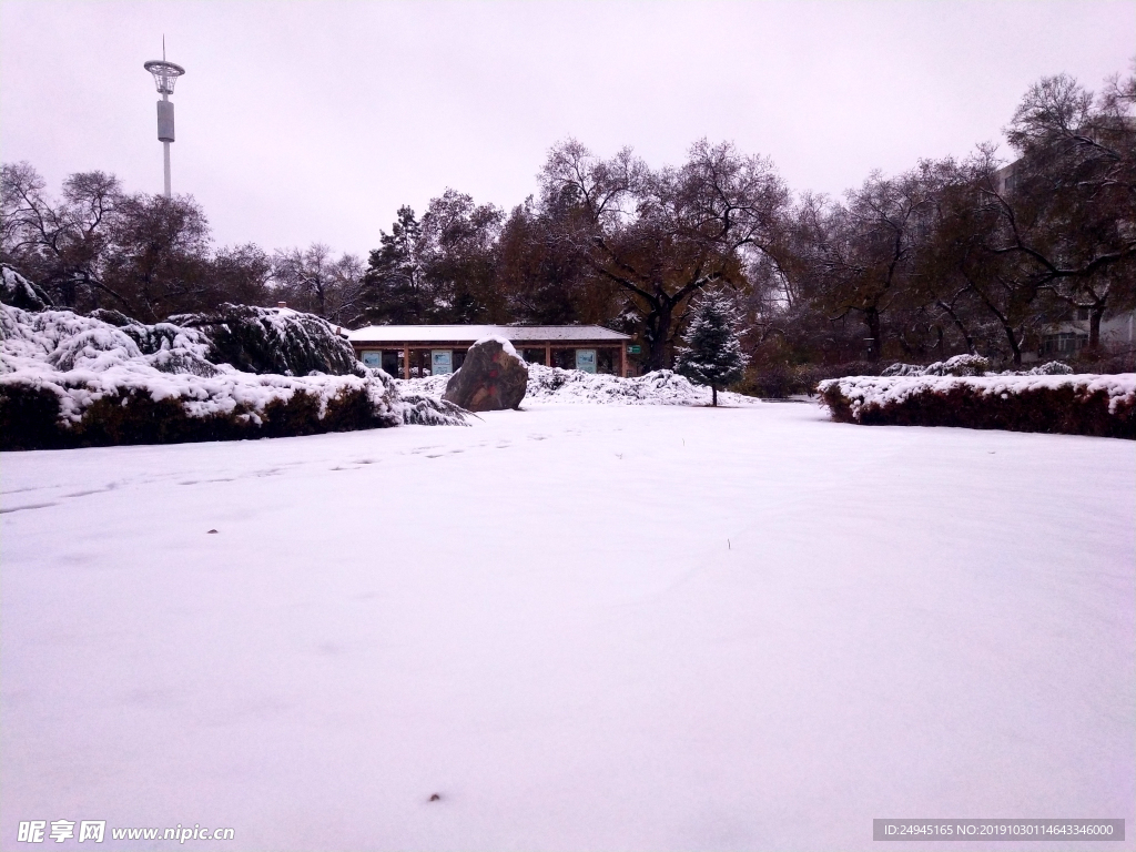
[[453, 373], [476, 341], [492, 336], [529, 364], [628, 375], [630, 336], [598, 325], [371, 325], [348, 333], [359, 360], [402, 378]]

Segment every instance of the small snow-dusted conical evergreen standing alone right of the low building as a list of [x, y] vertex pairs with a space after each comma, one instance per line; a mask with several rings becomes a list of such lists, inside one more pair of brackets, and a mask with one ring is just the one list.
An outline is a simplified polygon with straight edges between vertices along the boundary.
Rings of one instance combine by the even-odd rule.
[[693, 382], [710, 385], [718, 404], [718, 385], [742, 377], [750, 358], [734, 332], [737, 312], [725, 293], [704, 293], [694, 304], [691, 324], [683, 335], [675, 370]]

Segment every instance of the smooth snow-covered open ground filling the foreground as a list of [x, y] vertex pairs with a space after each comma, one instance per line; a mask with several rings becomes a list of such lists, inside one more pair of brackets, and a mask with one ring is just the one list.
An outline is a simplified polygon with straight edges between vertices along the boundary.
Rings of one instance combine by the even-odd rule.
[[1136, 847], [1130, 442], [527, 401], [0, 463], [5, 850]]

